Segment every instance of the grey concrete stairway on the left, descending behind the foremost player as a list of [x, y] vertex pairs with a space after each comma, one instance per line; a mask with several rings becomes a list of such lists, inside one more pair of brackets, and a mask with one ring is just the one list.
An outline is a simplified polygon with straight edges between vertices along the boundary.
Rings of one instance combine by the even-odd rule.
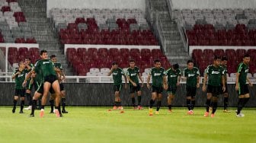
[[58, 62], [62, 64], [66, 75], [73, 75], [72, 68], [68, 67], [63, 49], [60, 49], [59, 39], [50, 25], [50, 19], [46, 17], [46, 0], [19, 0], [27, 23], [32, 29], [33, 37], [39, 43], [39, 48], [46, 49], [50, 55], [56, 55]]

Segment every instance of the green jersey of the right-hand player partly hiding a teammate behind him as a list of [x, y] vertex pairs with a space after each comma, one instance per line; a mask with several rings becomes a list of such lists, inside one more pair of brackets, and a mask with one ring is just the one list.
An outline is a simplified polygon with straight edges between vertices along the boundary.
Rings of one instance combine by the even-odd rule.
[[214, 87], [221, 86], [222, 75], [224, 75], [224, 70], [221, 66], [215, 67], [214, 65], [209, 65], [206, 68], [206, 74], [208, 75], [208, 84]]

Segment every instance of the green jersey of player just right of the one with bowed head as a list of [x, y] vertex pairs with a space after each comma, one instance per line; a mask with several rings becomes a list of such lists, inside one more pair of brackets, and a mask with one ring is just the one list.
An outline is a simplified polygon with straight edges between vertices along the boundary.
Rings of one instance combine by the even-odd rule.
[[184, 69], [184, 77], [187, 78], [187, 86], [197, 87], [198, 76], [200, 76], [200, 72], [197, 67], [193, 67], [192, 69]]

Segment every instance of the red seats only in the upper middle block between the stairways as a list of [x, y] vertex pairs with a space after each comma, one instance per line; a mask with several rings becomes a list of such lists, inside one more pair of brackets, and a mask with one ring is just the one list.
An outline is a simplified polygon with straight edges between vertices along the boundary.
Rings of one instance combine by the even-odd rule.
[[59, 30], [59, 37], [62, 44], [158, 45], [151, 30], [139, 30], [134, 25], [136, 20], [129, 20], [117, 19], [114, 21], [117, 29], [110, 30], [106, 24], [100, 30], [94, 18], [87, 18], [87, 21], [80, 18], [80, 22], [87, 22], [86, 27], [82, 27], [81, 23], [69, 23]]

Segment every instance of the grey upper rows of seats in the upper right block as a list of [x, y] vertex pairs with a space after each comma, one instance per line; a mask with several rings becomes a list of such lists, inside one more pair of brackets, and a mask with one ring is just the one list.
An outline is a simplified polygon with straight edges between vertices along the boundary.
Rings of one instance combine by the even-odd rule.
[[208, 24], [249, 24], [250, 19], [256, 19], [254, 9], [247, 8], [214, 8], [211, 9], [175, 9], [174, 18], [178, 18], [183, 24], [197, 24], [205, 21]]

